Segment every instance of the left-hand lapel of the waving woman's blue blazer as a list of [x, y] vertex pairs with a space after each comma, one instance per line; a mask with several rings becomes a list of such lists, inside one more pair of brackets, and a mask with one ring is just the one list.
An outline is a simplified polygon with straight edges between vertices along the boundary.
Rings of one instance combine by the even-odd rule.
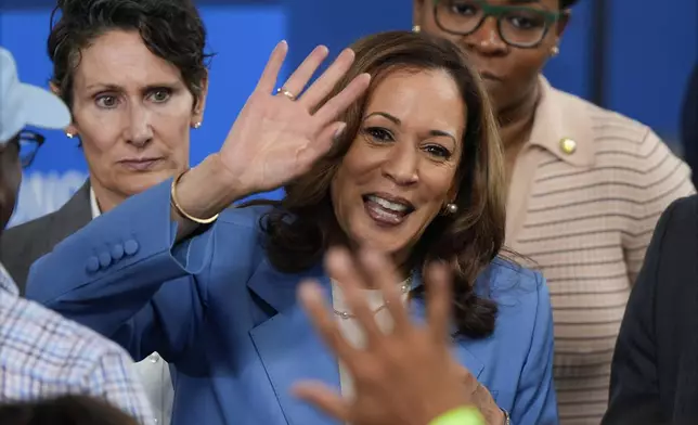
[[295, 384], [308, 379], [339, 389], [337, 360], [296, 301], [296, 289], [303, 278], [318, 279], [326, 291], [327, 301], [331, 301], [329, 280], [321, 268], [303, 275], [288, 275], [273, 270], [264, 261], [248, 282], [248, 287], [276, 314], [254, 327], [249, 335], [288, 424], [337, 424], [290, 392]]

